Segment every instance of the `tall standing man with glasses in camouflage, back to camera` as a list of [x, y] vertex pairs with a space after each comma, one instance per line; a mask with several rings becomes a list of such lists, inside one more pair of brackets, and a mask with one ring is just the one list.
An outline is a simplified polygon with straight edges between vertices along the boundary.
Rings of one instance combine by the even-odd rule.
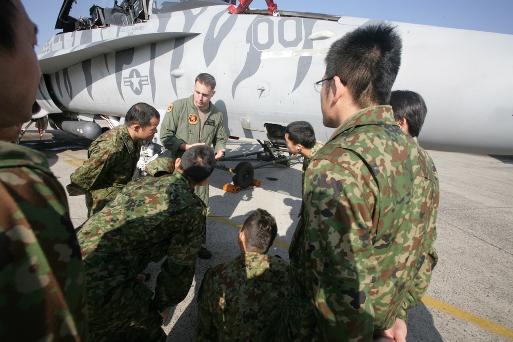
[[438, 175], [383, 106], [400, 61], [385, 24], [349, 32], [326, 56], [323, 124], [336, 130], [306, 171], [282, 340], [404, 341], [407, 310], [427, 289]]

